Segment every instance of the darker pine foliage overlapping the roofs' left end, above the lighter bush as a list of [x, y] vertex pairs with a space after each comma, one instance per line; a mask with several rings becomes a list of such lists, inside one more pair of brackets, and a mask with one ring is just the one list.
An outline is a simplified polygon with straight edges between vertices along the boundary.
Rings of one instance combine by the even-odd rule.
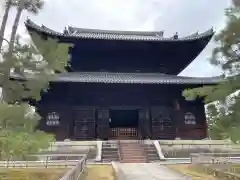
[[[37, 48], [32, 44], [21, 44], [16, 40], [13, 55], [0, 62], [0, 85], [3, 88], [5, 102], [15, 103], [22, 99], [40, 100], [40, 92], [47, 90], [54, 72], [63, 72], [68, 66], [68, 44], [59, 44], [56, 40], [42, 40], [33, 35]], [[9, 70], [22, 81], [10, 81]], [[27, 79], [25, 81], [24, 79]]]

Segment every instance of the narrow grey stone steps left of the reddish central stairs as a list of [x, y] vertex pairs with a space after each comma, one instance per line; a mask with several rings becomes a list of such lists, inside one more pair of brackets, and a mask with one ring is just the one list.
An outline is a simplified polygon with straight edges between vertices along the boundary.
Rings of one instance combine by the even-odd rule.
[[102, 162], [119, 161], [119, 150], [117, 141], [103, 141]]

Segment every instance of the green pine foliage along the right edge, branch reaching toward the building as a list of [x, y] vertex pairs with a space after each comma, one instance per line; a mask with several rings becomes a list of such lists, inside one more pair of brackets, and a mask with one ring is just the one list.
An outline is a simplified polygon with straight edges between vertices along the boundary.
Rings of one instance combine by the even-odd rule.
[[215, 36], [218, 46], [210, 62], [223, 70], [224, 81], [215, 86], [186, 89], [186, 99], [204, 97], [208, 105], [209, 134], [214, 139], [240, 140], [240, 9], [226, 10], [226, 27]]

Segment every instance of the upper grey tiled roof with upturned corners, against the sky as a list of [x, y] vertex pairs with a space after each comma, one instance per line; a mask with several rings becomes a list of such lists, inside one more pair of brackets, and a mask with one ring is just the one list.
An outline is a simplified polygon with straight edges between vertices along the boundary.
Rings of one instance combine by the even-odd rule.
[[178, 37], [174, 35], [172, 37], [164, 37], [161, 31], [110, 31], [110, 30], [98, 30], [98, 29], [84, 29], [68, 27], [63, 33], [54, 31], [42, 25], [39, 26], [27, 20], [25, 25], [28, 29], [34, 29], [38, 32], [46, 33], [52, 36], [66, 37], [66, 38], [81, 38], [81, 39], [107, 39], [107, 40], [132, 40], [132, 41], [191, 41], [203, 39], [205, 37], [212, 36], [214, 34], [213, 29], [210, 29], [204, 33], [194, 33], [187, 37]]

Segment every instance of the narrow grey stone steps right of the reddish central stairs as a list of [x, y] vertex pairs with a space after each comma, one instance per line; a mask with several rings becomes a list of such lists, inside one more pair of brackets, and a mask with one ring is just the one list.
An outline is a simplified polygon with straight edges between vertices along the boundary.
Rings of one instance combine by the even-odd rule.
[[147, 155], [147, 161], [149, 163], [160, 161], [157, 150], [153, 143], [144, 144], [143, 147], [144, 147], [145, 153]]

